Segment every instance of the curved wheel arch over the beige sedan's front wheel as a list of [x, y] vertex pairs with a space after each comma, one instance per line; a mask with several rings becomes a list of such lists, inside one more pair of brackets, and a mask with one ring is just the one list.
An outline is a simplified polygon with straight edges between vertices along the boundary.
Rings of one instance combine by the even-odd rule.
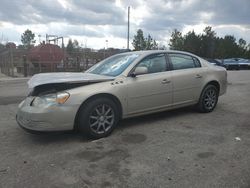
[[94, 100], [94, 99], [99, 98], [99, 97], [105, 97], [105, 98], [111, 99], [113, 102], [115, 102], [115, 104], [117, 105], [118, 110], [119, 110], [119, 119], [122, 118], [123, 110], [122, 110], [122, 104], [121, 104], [120, 100], [115, 95], [110, 94], [110, 93], [98, 93], [98, 94], [95, 94], [95, 95], [88, 97], [86, 100], [84, 100], [82, 102], [82, 104], [78, 108], [76, 116], [75, 116], [74, 129], [78, 128], [79, 112], [82, 110], [84, 105], [86, 105], [89, 101]]

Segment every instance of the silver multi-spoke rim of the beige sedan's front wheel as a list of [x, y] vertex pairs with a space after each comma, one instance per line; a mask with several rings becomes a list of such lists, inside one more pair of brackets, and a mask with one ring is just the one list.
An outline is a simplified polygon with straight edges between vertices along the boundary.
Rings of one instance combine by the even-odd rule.
[[114, 124], [115, 114], [112, 107], [107, 104], [101, 104], [94, 108], [90, 117], [90, 128], [96, 134], [107, 132]]

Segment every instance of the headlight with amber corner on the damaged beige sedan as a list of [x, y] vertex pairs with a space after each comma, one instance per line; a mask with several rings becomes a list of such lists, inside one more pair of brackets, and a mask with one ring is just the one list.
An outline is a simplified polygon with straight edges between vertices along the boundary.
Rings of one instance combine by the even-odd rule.
[[63, 104], [68, 100], [69, 96], [69, 93], [62, 92], [35, 97], [31, 106], [48, 107], [55, 104]]

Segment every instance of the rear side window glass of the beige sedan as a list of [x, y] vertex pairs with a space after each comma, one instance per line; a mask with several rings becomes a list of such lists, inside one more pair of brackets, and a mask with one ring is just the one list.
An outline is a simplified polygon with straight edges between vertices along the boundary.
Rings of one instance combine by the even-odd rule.
[[189, 55], [170, 53], [169, 58], [173, 66], [173, 70], [190, 69], [201, 66], [198, 59]]

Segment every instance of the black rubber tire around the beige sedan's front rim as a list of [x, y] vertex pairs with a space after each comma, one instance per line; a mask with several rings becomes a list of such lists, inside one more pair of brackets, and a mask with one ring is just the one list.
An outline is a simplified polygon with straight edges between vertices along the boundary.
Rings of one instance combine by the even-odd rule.
[[[93, 132], [90, 128], [89, 116], [92, 113], [92, 111], [94, 110], [94, 108], [98, 105], [101, 105], [101, 104], [106, 104], [113, 109], [115, 119], [114, 119], [114, 123], [113, 123], [112, 127], [107, 132], [105, 132], [103, 134], [97, 134], [97, 133]], [[116, 125], [119, 121], [119, 111], [118, 111], [117, 105], [111, 99], [106, 98], [106, 97], [95, 98], [95, 99], [88, 101], [86, 104], [84, 104], [81, 107], [81, 109], [79, 111], [78, 118], [79, 118], [78, 127], [79, 127], [80, 131], [90, 138], [98, 139], [98, 138], [106, 137], [106, 136], [111, 134], [111, 132], [114, 130], [114, 128], [116, 127]]]

